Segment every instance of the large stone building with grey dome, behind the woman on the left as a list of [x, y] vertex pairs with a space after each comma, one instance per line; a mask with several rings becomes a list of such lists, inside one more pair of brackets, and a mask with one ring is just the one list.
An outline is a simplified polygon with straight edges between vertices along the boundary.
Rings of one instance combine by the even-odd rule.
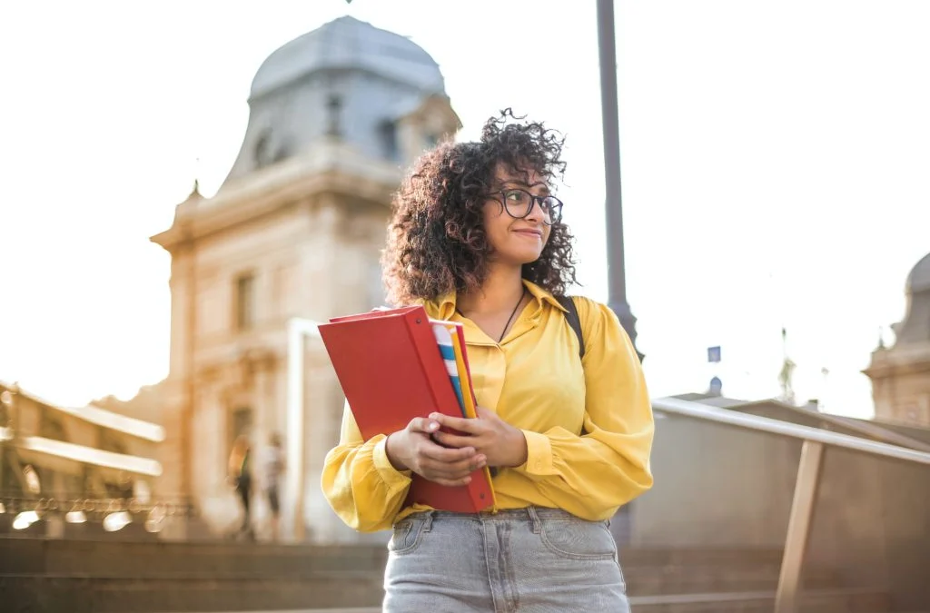
[[[460, 124], [426, 51], [351, 17], [274, 51], [248, 103], [218, 193], [195, 187], [152, 237], [171, 254], [160, 490], [189, 497], [209, 529], [224, 532], [240, 517], [226, 479], [233, 441], [249, 438], [260, 487], [260, 454], [282, 433], [283, 526], [297, 539], [351, 540], [320, 494], [343, 400], [312, 322], [383, 303], [392, 193], [403, 168]], [[298, 364], [289, 342], [301, 339], [304, 367], [288, 380], [288, 363]], [[258, 526], [268, 511], [259, 490], [254, 505]]]

